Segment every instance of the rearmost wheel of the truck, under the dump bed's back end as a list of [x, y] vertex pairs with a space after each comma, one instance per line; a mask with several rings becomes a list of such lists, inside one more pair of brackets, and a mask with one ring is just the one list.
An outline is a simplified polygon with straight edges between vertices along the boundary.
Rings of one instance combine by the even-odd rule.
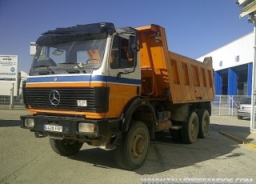
[[208, 110], [198, 110], [198, 138], [207, 138], [210, 130], [210, 115]]

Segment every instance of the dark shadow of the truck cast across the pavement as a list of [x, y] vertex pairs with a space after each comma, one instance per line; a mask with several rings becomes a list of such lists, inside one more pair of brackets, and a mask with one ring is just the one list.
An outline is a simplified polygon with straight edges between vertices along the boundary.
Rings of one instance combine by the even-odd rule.
[[[174, 142], [169, 131], [158, 136], [150, 142], [150, 151], [146, 162], [135, 172], [137, 174], [158, 174], [166, 170], [193, 166], [202, 167], [200, 162], [210, 159], [230, 159], [240, 157], [242, 154], [236, 153], [239, 144], [230, 138], [219, 134], [219, 130], [230, 130], [232, 128], [240, 129], [246, 127], [231, 127], [222, 125], [210, 125], [210, 134], [208, 138], [198, 138], [194, 144], [183, 144]], [[246, 131], [247, 129], [243, 129]], [[249, 133], [250, 134], [250, 131]], [[80, 150], [70, 159], [89, 162], [94, 166], [106, 169], [120, 169], [114, 159], [114, 150], [106, 151], [99, 148]]]

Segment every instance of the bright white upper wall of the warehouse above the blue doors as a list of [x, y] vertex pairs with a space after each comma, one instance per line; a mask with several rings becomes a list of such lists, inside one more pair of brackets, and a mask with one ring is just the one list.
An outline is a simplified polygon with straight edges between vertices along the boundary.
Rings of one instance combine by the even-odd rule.
[[[196, 60], [203, 62], [205, 57], [213, 58], [214, 70], [223, 70], [226, 68], [240, 66], [254, 60], [254, 32], [246, 34], [241, 38], [229, 42], [207, 54], [202, 55]], [[238, 62], [236, 61], [237, 57]], [[222, 62], [222, 66], [220, 66]]]

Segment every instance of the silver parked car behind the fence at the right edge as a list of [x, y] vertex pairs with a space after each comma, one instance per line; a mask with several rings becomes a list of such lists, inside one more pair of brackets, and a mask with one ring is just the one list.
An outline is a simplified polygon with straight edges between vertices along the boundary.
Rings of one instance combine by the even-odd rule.
[[238, 105], [238, 119], [250, 118], [251, 98], [242, 98]]

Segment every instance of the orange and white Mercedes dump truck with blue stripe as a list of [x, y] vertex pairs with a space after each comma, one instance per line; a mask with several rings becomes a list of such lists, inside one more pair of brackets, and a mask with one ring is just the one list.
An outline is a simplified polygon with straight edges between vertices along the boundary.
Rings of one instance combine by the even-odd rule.
[[36, 43], [21, 127], [49, 136], [57, 154], [76, 154], [86, 142], [136, 170], [157, 132], [189, 144], [207, 137], [212, 59], [169, 51], [162, 26], [92, 23], [46, 31]]

